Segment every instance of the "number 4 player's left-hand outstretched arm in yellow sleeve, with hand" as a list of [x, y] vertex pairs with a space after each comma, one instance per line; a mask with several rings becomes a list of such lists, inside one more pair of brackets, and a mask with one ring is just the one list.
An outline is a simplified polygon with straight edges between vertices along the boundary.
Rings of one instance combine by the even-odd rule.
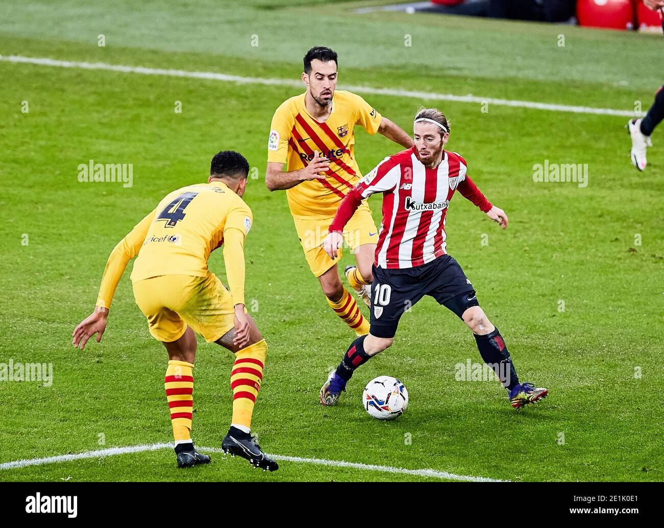
[[106, 330], [106, 319], [108, 318], [108, 310], [111, 307], [113, 296], [118, 288], [118, 283], [129, 260], [134, 258], [147, 236], [147, 230], [155, 218], [155, 211], [152, 211], [147, 217], [141, 220], [132, 230], [125, 236], [118, 245], [111, 252], [106, 262], [106, 269], [104, 276], [102, 276], [102, 284], [99, 288], [99, 295], [94, 310], [88, 317], [83, 319], [78, 326], [74, 329], [72, 335], [72, 344], [74, 347], [84, 349], [88, 339], [93, 335], [97, 335], [97, 343], [102, 340], [104, 330]]

